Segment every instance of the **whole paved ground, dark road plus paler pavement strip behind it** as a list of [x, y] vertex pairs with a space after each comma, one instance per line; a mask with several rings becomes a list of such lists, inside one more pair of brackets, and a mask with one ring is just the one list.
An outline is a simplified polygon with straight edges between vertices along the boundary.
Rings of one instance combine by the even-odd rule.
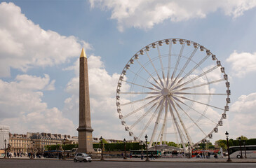
[[34, 159], [11, 158], [1, 159], [0, 167], [256, 167], [256, 160], [243, 159], [226, 162], [223, 159], [163, 159], [158, 158], [151, 162], [142, 162], [140, 159], [132, 160], [123, 159], [106, 159], [105, 161], [93, 160], [93, 162], [73, 162], [73, 160], [56, 160], [56, 159]]

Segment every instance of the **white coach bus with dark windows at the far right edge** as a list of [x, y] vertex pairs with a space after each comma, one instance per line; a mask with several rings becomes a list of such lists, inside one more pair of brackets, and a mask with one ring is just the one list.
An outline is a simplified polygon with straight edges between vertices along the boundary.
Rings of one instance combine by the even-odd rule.
[[229, 156], [230, 158], [241, 158], [241, 149], [243, 158], [245, 158], [245, 151], [246, 151], [246, 158], [256, 158], [256, 145], [250, 146], [232, 146], [229, 147]]

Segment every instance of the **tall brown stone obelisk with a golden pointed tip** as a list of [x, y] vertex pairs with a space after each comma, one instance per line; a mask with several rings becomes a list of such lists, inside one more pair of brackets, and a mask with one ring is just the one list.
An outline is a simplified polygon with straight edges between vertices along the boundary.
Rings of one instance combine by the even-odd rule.
[[86, 52], [80, 55], [79, 73], [79, 148], [77, 152], [93, 153], [93, 129], [90, 124], [90, 95]]

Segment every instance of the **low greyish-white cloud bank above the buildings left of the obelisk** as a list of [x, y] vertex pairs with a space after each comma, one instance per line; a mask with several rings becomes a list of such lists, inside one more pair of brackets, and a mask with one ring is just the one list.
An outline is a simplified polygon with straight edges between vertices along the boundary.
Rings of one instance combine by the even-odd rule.
[[10, 125], [11, 132], [58, 132], [74, 134], [72, 120], [57, 108], [48, 109], [42, 90], [53, 90], [54, 81], [44, 77], [18, 75], [8, 83], [0, 80], [0, 123]]

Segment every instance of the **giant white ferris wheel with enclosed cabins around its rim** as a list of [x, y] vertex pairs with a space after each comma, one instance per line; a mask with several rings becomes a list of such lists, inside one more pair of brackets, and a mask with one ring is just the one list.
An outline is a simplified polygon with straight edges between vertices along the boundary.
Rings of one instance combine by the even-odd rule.
[[[140, 141], [195, 146], [227, 118], [228, 76], [203, 45], [179, 38], [151, 43], [130, 58], [116, 89], [121, 125]], [[185, 149], [185, 148], [184, 148]]]

